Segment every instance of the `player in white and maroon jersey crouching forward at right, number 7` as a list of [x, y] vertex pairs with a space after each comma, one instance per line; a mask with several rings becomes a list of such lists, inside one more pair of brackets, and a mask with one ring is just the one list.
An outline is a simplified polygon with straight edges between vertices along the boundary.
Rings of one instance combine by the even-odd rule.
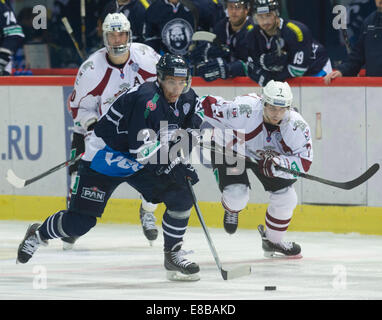
[[[255, 166], [246, 162], [245, 169], [252, 169], [270, 194], [266, 229], [258, 226], [266, 257], [280, 254], [301, 257], [298, 244], [283, 240], [297, 205], [293, 187], [296, 179], [275, 168], [277, 165], [307, 172], [313, 160], [309, 125], [291, 108], [292, 100], [292, 91], [286, 82], [271, 80], [263, 88], [262, 97], [253, 93], [226, 101], [207, 96], [202, 102], [204, 120], [214, 126], [214, 143], [222, 145], [224, 152], [233, 149], [258, 161]], [[211, 152], [222, 192], [224, 228], [232, 234], [237, 229], [238, 214], [249, 200], [250, 183], [246, 170], [240, 173], [227, 159], [219, 164], [217, 156]], [[239, 174], [235, 174], [235, 170]]]

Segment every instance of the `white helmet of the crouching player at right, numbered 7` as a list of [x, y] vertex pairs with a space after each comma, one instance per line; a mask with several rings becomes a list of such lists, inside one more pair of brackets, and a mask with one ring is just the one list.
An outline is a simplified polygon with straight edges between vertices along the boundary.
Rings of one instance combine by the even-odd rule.
[[287, 82], [271, 80], [263, 87], [262, 98], [264, 105], [287, 108], [292, 105], [293, 94]]

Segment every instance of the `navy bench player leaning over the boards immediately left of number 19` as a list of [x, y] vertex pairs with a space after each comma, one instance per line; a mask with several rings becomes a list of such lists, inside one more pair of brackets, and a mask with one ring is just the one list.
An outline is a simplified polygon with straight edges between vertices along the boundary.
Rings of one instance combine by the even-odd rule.
[[209, 43], [197, 44], [191, 51], [192, 64], [196, 65], [196, 75], [206, 81], [246, 76], [247, 42], [246, 36], [253, 29], [250, 0], [225, 0], [228, 16], [220, 20], [214, 32], [219, 42], [228, 50]]

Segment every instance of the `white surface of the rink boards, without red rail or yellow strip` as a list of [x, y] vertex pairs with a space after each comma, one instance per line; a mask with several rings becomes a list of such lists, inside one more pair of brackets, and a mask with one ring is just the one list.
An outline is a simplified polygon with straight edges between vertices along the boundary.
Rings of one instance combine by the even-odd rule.
[[[259, 87], [195, 87], [199, 95], [213, 94], [232, 99], [248, 92], [260, 93]], [[314, 161], [310, 174], [330, 180], [351, 180], [375, 162], [381, 162], [380, 134], [382, 90], [372, 87], [292, 87], [295, 101], [313, 134]], [[0, 87], [0, 176], [13, 168], [21, 177], [30, 178], [68, 158], [65, 150], [64, 100], [62, 87]], [[26, 98], [28, 97], [28, 98]], [[323, 138], [315, 139], [316, 113], [322, 114]], [[42, 155], [37, 160], [8, 159], [9, 126], [20, 128], [18, 146], [25, 149], [25, 126], [30, 126], [30, 149], [36, 152], [37, 129], [43, 129]], [[9, 139], [8, 139], [9, 140]], [[15, 154], [15, 152], [13, 152]], [[201, 181], [195, 187], [201, 201], [219, 201], [220, 192], [209, 169], [196, 166]], [[267, 194], [250, 173], [250, 202], [265, 203]], [[350, 204], [382, 206], [381, 172], [351, 191], [342, 191], [301, 179], [296, 185], [299, 203]], [[24, 189], [13, 189], [5, 179], [0, 194], [66, 196], [67, 174], [61, 170]], [[129, 186], [120, 186], [114, 198], [137, 198]]]

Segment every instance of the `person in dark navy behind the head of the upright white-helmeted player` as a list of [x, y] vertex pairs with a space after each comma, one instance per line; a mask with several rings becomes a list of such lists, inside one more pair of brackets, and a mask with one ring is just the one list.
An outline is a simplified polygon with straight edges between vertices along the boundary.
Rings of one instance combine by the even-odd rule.
[[102, 22], [109, 13], [123, 13], [131, 23], [133, 42], [142, 42], [143, 25], [147, 8], [150, 6], [150, 0], [112, 0], [103, 8], [97, 22], [98, 35], [102, 38]]

